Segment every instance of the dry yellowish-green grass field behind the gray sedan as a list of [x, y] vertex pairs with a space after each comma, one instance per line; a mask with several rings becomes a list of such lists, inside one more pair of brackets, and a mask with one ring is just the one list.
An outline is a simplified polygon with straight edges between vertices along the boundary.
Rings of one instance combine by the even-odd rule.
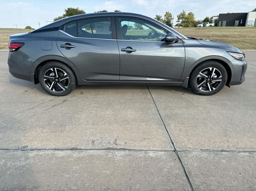
[[[174, 28], [185, 36], [220, 41], [239, 49], [256, 49], [256, 27]], [[8, 49], [9, 36], [26, 29], [0, 28], [0, 49]], [[145, 30], [147, 32], [148, 30]], [[134, 30], [136, 32], [136, 30]], [[148, 33], [148, 32], [147, 32]]]

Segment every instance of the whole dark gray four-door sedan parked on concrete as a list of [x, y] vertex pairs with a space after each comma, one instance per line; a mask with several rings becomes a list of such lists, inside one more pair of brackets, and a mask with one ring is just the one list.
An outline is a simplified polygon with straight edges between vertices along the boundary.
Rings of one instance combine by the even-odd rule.
[[241, 84], [247, 68], [236, 47], [124, 12], [76, 15], [11, 35], [9, 50], [10, 73], [54, 96], [103, 84], [175, 85], [213, 95]]

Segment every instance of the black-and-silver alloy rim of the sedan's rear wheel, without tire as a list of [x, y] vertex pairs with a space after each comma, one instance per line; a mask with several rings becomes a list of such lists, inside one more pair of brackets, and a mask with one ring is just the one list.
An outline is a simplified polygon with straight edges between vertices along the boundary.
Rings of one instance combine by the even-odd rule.
[[51, 91], [65, 91], [69, 85], [69, 77], [66, 72], [57, 67], [52, 67], [44, 73], [44, 83]]

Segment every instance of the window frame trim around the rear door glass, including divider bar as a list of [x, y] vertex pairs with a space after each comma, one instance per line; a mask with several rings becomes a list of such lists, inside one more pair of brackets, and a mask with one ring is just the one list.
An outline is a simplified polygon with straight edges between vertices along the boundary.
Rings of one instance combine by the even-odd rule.
[[[105, 38], [90, 38], [90, 37], [78, 37], [78, 36], [73, 36], [73, 35], [70, 35], [66, 32], [64, 32], [64, 27], [69, 24], [69, 23], [72, 23], [72, 22], [76, 22], [76, 35], [78, 34], [78, 21], [81, 21], [81, 20], [89, 20], [89, 19], [99, 19], [99, 18], [110, 18], [110, 23], [111, 23], [111, 34], [112, 34], [112, 39], [105, 39]], [[76, 19], [76, 20], [72, 20], [72, 21], [69, 21], [69, 22], [66, 22], [65, 24], [63, 24], [62, 26], [60, 26], [60, 29], [59, 29], [60, 32], [70, 36], [70, 37], [73, 37], [73, 38], [82, 38], [82, 39], [104, 39], [104, 40], [116, 40], [117, 37], [116, 37], [116, 25], [115, 25], [115, 18], [114, 16], [98, 16], [98, 17], [88, 17], [88, 18], [80, 18], [80, 19]]]

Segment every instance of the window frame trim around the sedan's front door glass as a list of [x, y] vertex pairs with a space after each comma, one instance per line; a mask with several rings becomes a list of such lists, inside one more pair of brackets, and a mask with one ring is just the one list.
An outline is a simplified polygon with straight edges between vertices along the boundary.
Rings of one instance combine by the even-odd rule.
[[[124, 40], [122, 39], [122, 35], [121, 35], [121, 26], [120, 26], [120, 23], [119, 23], [119, 20], [118, 18], [132, 18], [132, 19], [137, 19], [137, 20], [142, 20], [142, 21], [145, 21], [145, 22], [148, 22], [150, 24], [152, 24], [153, 26], [156, 26], [160, 29], [162, 29], [164, 32], [166, 32], [167, 34], [168, 33], [171, 33], [170, 31], [166, 30], [165, 28], [162, 28], [161, 26], [155, 24], [154, 22], [151, 22], [149, 20], [146, 20], [146, 19], [143, 19], [143, 18], [139, 18], [139, 17], [133, 17], [133, 16], [115, 16], [115, 24], [116, 24], [116, 36], [117, 36], [117, 39], [118, 40], [122, 40], [122, 41], [138, 41], [138, 42], [160, 42], [160, 43], [163, 43], [164, 41], [142, 41], [142, 40]], [[177, 37], [178, 39], [180, 39], [179, 37]]]

